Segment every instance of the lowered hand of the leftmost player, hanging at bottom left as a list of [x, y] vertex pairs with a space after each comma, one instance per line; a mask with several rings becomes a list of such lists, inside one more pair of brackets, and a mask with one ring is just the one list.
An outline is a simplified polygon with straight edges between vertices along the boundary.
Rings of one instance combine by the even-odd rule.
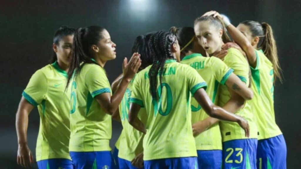
[[17, 156], [17, 163], [18, 165], [26, 168], [31, 168], [33, 163], [33, 154], [31, 153], [27, 144], [20, 145], [18, 147], [18, 156]]

